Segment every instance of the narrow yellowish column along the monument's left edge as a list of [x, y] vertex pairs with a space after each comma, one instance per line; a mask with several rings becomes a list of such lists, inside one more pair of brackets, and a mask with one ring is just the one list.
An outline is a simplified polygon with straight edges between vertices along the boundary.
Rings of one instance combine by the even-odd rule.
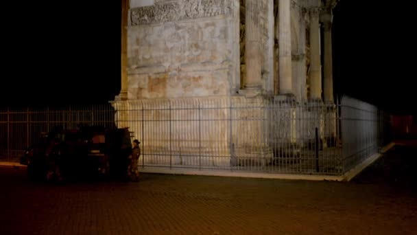
[[129, 0], [121, 0], [121, 100], [128, 98], [128, 14]]

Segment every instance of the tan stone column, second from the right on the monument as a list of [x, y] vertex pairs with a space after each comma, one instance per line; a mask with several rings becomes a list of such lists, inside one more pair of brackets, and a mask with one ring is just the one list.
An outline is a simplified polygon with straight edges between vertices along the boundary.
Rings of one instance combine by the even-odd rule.
[[310, 10], [310, 98], [322, 98], [322, 65], [320, 63], [319, 9]]

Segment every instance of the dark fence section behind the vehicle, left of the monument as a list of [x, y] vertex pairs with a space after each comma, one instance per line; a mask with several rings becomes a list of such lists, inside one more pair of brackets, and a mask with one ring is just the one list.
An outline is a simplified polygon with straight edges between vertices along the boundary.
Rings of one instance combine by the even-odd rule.
[[25, 148], [54, 126], [78, 124], [115, 126], [110, 104], [64, 108], [7, 108], [0, 110], [0, 161], [18, 161]]

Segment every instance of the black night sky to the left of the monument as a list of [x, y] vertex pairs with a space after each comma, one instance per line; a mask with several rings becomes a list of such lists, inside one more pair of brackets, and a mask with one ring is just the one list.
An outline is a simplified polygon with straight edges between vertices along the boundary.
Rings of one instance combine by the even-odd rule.
[[28, 1], [8, 9], [1, 104], [97, 104], [119, 93], [119, 1]]

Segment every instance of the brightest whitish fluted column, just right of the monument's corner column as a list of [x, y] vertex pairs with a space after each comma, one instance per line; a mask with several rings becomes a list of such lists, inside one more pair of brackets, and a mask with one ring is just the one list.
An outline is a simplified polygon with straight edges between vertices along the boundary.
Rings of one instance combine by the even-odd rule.
[[279, 47], [279, 93], [292, 94], [291, 67], [291, 1], [279, 0], [278, 3], [278, 47]]

